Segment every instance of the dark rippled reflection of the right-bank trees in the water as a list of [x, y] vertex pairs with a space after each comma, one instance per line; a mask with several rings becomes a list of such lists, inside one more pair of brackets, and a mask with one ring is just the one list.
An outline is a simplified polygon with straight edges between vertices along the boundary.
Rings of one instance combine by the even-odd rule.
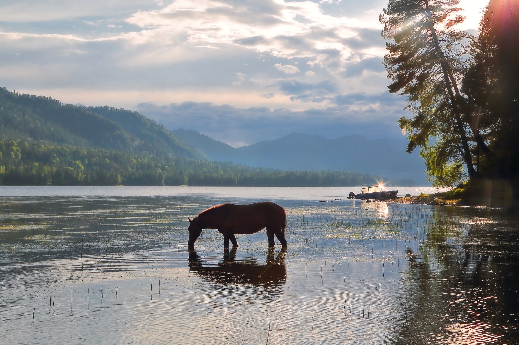
[[434, 212], [386, 343], [519, 343], [519, 219], [483, 212]]

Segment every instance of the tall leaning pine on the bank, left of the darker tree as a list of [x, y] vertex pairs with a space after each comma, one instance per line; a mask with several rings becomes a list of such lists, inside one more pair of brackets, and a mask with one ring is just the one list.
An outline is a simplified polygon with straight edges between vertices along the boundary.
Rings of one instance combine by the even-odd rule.
[[445, 175], [444, 167], [463, 163], [469, 177], [476, 179], [469, 142], [474, 137], [464, 121], [458, 87], [466, 68], [463, 42], [469, 38], [454, 29], [464, 19], [456, 15], [458, 2], [390, 0], [379, 20], [384, 24], [382, 36], [392, 41], [384, 57], [393, 81], [389, 91], [406, 95], [407, 109], [415, 113], [412, 119], [399, 120], [408, 133], [407, 152], [421, 147], [420, 155], [433, 174]]

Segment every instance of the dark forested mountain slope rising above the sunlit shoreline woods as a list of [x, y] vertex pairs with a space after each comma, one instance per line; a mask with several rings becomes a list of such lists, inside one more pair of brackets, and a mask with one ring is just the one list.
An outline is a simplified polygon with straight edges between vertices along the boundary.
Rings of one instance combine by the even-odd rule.
[[0, 88], [0, 137], [154, 156], [207, 159], [138, 112], [63, 104]]

